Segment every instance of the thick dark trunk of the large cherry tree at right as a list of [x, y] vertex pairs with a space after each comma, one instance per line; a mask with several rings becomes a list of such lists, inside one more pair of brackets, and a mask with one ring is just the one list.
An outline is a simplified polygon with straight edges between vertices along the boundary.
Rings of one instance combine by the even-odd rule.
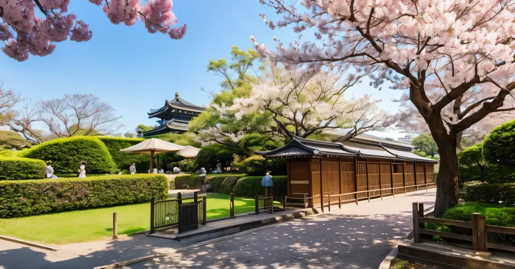
[[442, 217], [447, 208], [452, 208], [458, 204], [459, 173], [456, 147], [449, 145], [449, 140], [440, 142], [437, 142], [440, 154], [440, 170], [437, 177], [435, 217]]

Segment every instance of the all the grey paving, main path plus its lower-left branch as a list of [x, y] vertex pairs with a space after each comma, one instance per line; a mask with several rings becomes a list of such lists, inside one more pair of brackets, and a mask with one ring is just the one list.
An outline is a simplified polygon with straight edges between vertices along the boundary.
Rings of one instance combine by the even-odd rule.
[[58, 252], [0, 240], [0, 269], [91, 269], [163, 252], [171, 254], [125, 268], [377, 268], [411, 231], [416, 201], [433, 205], [435, 191], [350, 206], [187, 249], [181, 249], [185, 243], [146, 235], [66, 245]]

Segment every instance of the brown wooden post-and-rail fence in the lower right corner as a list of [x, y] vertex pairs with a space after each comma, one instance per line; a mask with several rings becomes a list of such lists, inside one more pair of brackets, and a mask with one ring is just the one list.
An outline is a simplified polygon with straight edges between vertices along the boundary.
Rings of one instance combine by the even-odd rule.
[[[442, 238], [453, 238], [472, 242], [472, 249], [479, 252], [486, 252], [488, 249], [501, 249], [508, 252], [515, 252], [514, 246], [490, 243], [487, 241], [488, 233], [501, 233], [505, 235], [515, 235], [515, 228], [486, 225], [486, 219], [479, 213], [472, 215], [472, 221], [457, 221], [452, 219], [437, 219], [424, 216], [424, 204], [413, 203], [413, 241], [422, 242], [422, 235], [438, 235]], [[463, 228], [472, 229], [472, 235], [457, 233], [446, 233], [425, 228], [426, 223], [446, 224]]]

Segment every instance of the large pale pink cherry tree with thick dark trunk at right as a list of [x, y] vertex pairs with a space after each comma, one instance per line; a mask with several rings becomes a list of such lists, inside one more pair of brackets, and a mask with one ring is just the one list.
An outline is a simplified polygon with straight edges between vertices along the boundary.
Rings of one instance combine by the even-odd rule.
[[408, 92], [439, 147], [435, 216], [456, 205], [459, 134], [492, 113], [515, 110], [515, 1], [260, 2], [283, 15], [278, 22], [262, 15], [271, 28], [315, 29], [319, 40], [278, 41], [275, 52], [255, 41], [260, 57], [308, 69], [375, 66], [372, 86], [388, 81]]

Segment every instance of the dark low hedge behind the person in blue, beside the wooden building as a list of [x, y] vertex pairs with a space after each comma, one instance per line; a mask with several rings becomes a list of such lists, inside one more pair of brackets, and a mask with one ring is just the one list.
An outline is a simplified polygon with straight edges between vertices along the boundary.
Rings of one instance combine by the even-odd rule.
[[[236, 186], [234, 186], [234, 196], [241, 197], [254, 197], [256, 195], [264, 195], [264, 187], [261, 186], [261, 175], [241, 177]], [[274, 196], [283, 197], [286, 196], [286, 180], [285, 175], [274, 175], [272, 180], [274, 181]]]

